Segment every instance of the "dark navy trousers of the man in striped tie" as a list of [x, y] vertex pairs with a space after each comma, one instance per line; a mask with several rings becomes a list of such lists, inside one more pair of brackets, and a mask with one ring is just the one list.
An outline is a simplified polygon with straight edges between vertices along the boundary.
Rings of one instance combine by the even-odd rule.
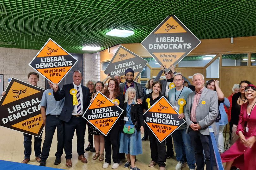
[[66, 154], [66, 159], [72, 158], [72, 140], [76, 130], [77, 137], [77, 153], [78, 155], [84, 155], [84, 135], [86, 128], [86, 120], [83, 117], [71, 116], [69, 122], [65, 122], [64, 125], [64, 151]]

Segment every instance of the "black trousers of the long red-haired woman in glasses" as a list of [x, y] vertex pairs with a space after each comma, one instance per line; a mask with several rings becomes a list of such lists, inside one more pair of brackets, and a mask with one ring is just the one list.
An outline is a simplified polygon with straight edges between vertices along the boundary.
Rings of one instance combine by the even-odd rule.
[[107, 134], [105, 139], [105, 162], [111, 163], [111, 146], [113, 151], [113, 162], [120, 163], [121, 156], [119, 154], [119, 126], [120, 122], [117, 121], [112, 127], [111, 131]]

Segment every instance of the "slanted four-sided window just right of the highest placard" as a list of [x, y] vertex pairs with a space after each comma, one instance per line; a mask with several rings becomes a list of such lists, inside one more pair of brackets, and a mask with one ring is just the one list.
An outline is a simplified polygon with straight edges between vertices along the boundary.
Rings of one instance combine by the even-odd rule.
[[201, 56], [186, 56], [178, 64], [179, 67], [204, 67], [216, 54]]

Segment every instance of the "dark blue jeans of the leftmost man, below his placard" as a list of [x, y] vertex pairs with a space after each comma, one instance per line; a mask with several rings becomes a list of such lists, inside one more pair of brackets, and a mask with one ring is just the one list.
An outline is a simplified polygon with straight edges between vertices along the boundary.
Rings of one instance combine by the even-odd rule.
[[[32, 136], [28, 135], [26, 133], [23, 133], [24, 136], [24, 155], [25, 159], [29, 158], [31, 155], [31, 145], [32, 145]], [[35, 156], [39, 157], [41, 155], [41, 143], [42, 143], [42, 135], [38, 137], [34, 137], [34, 150], [35, 150]]]

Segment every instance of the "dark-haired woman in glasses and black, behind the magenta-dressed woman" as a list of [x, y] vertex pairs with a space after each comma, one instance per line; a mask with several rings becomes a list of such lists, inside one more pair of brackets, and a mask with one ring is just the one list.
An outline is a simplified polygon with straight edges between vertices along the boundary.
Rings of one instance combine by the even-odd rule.
[[229, 122], [229, 132], [231, 132], [231, 145], [235, 143], [235, 141], [239, 138], [236, 135], [237, 124], [239, 120], [239, 114], [241, 105], [247, 103], [247, 99], [245, 97], [245, 88], [247, 85], [252, 84], [247, 80], [243, 80], [239, 83], [240, 92], [236, 93], [232, 97], [232, 108], [231, 108], [231, 118]]

